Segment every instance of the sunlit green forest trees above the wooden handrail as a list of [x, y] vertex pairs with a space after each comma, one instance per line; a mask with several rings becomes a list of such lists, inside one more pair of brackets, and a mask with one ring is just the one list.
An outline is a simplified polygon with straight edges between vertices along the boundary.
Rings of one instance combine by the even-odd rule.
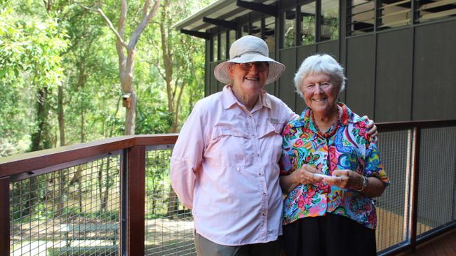
[[177, 132], [203, 97], [204, 41], [173, 24], [208, 3], [1, 1], [0, 156]]

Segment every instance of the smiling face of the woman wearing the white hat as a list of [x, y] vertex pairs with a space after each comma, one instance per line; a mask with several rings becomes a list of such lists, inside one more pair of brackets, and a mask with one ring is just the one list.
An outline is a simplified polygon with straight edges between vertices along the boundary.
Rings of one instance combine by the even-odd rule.
[[269, 74], [267, 62], [250, 62], [229, 66], [229, 77], [233, 79], [233, 87], [242, 92], [260, 91]]

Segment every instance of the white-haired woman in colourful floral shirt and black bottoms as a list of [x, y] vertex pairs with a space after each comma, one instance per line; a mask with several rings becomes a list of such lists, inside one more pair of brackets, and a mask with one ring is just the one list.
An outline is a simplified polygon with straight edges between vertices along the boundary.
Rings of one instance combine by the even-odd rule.
[[389, 180], [366, 120], [336, 101], [345, 80], [329, 55], [308, 57], [295, 76], [308, 107], [282, 133], [287, 256], [377, 253], [372, 198]]

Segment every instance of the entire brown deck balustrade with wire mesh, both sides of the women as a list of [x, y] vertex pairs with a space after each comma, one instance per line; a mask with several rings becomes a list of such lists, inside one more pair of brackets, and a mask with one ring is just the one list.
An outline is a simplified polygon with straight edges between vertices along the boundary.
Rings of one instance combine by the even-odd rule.
[[[456, 120], [377, 124], [391, 180], [377, 250], [396, 255], [456, 227]], [[196, 255], [170, 187], [177, 134], [0, 158], [0, 255]]]

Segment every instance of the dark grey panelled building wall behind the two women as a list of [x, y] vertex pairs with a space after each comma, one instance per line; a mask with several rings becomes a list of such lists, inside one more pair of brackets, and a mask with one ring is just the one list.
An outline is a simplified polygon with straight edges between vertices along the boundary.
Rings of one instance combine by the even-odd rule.
[[[281, 1], [279, 6], [279, 13], [283, 13], [297, 4]], [[340, 6], [339, 26], [345, 28], [347, 1], [340, 1]], [[283, 20], [281, 15], [276, 22]], [[266, 17], [247, 16], [239, 20]], [[216, 33], [218, 29], [210, 32]], [[265, 89], [297, 113], [301, 113], [305, 104], [295, 93], [295, 72], [305, 57], [325, 52], [346, 69], [347, 87], [340, 101], [356, 113], [368, 115], [376, 122], [456, 119], [455, 15], [356, 36], [346, 36], [345, 29], [340, 29], [338, 40], [284, 49], [279, 47], [281, 29], [283, 24], [276, 24], [276, 47], [270, 50], [271, 57], [286, 65], [286, 71], [278, 82], [266, 85]], [[237, 31], [238, 37], [240, 34]], [[206, 54], [210, 54], [207, 52], [210, 49], [209, 43]], [[220, 62], [206, 62], [206, 95], [222, 90], [223, 85], [213, 77], [213, 69]]]

